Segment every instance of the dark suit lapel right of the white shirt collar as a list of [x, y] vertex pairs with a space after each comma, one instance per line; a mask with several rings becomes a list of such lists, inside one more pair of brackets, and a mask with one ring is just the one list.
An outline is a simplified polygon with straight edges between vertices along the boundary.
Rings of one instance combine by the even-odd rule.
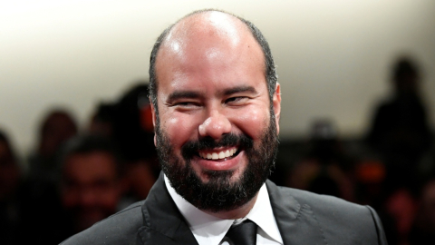
[[327, 244], [310, 206], [296, 201], [291, 195], [291, 189], [277, 187], [271, 181], [266, 181], [266, 187], [285, 245]]

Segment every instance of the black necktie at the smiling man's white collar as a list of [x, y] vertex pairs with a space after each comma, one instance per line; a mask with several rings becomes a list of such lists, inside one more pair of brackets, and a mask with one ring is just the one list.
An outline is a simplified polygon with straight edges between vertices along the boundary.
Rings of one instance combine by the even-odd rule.
[[239, 225], [233, 225], [220, 244], [227, 241], [230, 245], [256, 245], [256, 223], [245, 220]]

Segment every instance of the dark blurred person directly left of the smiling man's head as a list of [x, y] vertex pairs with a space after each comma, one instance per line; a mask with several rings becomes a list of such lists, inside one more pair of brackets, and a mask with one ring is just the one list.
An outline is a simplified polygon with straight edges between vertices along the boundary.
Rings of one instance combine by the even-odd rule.
[[90, 132], [111, 138], [120, 150], [130, 202], [145, 199], [160, 173], [148, 83], [131, 86], [116, 103], [102, 103], [92, 117]]

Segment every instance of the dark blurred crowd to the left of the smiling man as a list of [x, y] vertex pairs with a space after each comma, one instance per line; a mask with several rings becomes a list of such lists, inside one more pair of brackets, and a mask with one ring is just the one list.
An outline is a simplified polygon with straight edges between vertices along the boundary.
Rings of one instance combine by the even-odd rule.
[[153, 136], [146, 83], [99, 104], [82, 130], [49, 111], [25, 171], [0, 129], [0, 244], [58, 244], [144, 200], [160, 174]]

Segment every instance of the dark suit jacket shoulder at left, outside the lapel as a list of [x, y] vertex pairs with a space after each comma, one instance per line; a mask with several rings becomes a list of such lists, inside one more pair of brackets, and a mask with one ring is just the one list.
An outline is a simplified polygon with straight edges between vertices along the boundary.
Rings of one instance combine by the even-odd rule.
[[133, 203], [126, 209], [95, 223], [91, 228], [64, 240], [61, 245], [138, 244], [138, 230], [143, 226], [142, 205], [143, 201]]

